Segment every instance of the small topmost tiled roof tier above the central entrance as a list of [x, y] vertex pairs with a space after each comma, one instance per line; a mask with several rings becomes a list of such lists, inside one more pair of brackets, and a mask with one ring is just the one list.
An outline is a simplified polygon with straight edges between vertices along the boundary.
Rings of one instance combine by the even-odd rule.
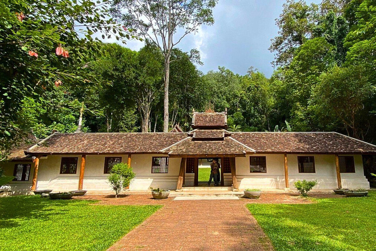
[[192, 118], [192, 128], [204, 127], [227, 127], [226, 112], [194, 112]]

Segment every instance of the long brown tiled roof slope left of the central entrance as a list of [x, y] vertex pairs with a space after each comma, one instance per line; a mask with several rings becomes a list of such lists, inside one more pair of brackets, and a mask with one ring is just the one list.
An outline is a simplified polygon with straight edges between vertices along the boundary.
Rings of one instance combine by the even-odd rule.
[[28, 153], [147, 153], [184, 139], [181, 132], [55, 133]]

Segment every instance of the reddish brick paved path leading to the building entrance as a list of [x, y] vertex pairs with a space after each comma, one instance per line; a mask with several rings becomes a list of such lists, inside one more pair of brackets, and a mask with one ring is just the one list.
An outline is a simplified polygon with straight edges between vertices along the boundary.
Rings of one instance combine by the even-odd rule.
[[291, 194], [263, 194], [259, 200], [238, 201], [173, 201], [173, 197], [157, 201], [150, 197], [85, 196], [85, 199], [101, 200], [101, 204], [164, 205], [115, 243], [110, 251], [269, 251], [273, 250], [269, 238], [245, 204], [312, 202]]

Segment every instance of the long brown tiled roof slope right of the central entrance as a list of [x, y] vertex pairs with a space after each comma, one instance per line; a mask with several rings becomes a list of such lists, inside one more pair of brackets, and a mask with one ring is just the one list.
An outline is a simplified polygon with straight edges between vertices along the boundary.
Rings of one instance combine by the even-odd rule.
[[362, 153], [376, 146], [336, 132], [233, 132], [257, 152]]

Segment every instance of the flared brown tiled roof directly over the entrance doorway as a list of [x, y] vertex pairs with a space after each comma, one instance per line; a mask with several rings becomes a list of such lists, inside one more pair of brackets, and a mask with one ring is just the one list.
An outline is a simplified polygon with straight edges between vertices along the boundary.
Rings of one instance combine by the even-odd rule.
[[210, 156], [210, 155], [242, 155], [245, 156], [246, 152], [253, 150], [237, 142], [231, 137], [225, 137], [223, 140], [193, 140], [191, 137], [164, 149], [162, 152], [173, 155], [197, 155], [197, 156]]

